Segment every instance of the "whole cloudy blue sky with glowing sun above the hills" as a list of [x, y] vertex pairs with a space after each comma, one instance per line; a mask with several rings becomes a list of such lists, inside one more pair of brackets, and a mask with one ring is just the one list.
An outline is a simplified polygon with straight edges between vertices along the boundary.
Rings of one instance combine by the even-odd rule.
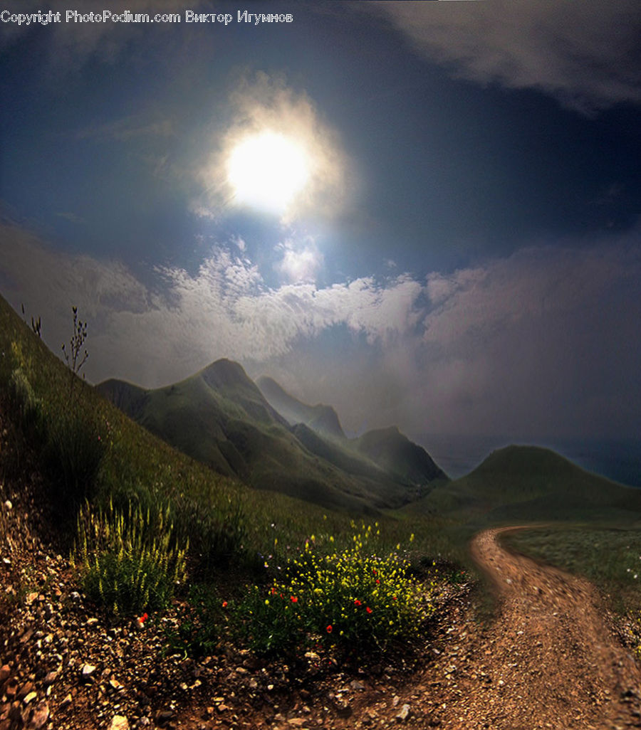
[[0, 15], [0, 293], [89, 382], [639, 438], [638, 0], [102, 3]]

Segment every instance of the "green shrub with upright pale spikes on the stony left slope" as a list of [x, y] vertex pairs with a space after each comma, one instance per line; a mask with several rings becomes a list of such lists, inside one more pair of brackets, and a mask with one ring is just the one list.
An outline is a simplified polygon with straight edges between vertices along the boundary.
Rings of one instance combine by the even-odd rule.
[[165, 607], [175, 585], [185, 580], [188, 545], [177, 545], [167, 507], [143, 512], [91, 512], [78, 517], [75, 558], [84, 591], [115, 615], [136, 615]]

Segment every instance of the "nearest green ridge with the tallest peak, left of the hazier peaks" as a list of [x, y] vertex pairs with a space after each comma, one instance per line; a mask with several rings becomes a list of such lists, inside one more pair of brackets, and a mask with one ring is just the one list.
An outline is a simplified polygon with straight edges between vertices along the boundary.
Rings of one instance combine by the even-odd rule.
[[306, 426], [291, 429], [230, 360], [166, 388], [107, 380], [96, 390], [172, 446], [255, 488], [355, 512], [398, 507], [415, 494], [368, 458]]

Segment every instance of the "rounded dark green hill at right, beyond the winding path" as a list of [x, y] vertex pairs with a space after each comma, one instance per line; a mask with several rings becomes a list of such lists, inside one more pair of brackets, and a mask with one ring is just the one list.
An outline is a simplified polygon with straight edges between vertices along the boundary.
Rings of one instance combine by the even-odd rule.
[[436, 486], [407, 510], [447, 514], [474, 525], [631, 523], [641, 519], [641, 490], [585, 472], [551, 450], [509, 446], [491, 453], [469, 475]]

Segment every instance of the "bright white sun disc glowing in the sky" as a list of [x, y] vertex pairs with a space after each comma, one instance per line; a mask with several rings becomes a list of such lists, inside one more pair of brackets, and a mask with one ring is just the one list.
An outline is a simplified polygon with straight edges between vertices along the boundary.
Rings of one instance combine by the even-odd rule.
[[238, 203], [280, 215], [308, 182], [306, 151], [284, 134], [252, 134], [232, 149], [227, 178]]

